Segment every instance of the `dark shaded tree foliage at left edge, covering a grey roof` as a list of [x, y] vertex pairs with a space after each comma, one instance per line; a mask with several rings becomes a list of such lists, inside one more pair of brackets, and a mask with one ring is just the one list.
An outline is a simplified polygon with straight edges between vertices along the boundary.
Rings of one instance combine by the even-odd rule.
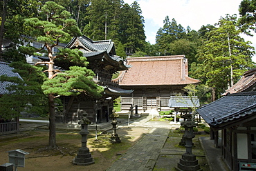
[[42, 92], [42, 83], [46, 80], [42, 68], [31, 66], [28, 63], [12, 62], [10, 67], [19, 77], [6, 77], [2, 75], [0, 81], [12, 82], [7, 88], [9, 94], [0, 98], [0, 115], [4, 119], [19, 117], [21, 112], [42, 116], [47, 113], [47, 98]]

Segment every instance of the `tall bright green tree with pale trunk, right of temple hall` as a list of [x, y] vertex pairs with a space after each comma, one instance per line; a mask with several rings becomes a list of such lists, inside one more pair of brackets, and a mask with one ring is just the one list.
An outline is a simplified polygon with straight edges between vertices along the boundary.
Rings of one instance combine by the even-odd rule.
[[201, 77], [206, 78], [206, 85], [214, 88], [217, 97], [246, 70], [254, 67], [251, 60], [254, 48], [239, 36], [241, 30], [236, 25], [235, 16], [227, 15], [221, 19], [219, 27], [208, 33], [208, 40], [199, 50], [198, 61], [203, 65], [197, 67], [203, 67], [204, 76]]

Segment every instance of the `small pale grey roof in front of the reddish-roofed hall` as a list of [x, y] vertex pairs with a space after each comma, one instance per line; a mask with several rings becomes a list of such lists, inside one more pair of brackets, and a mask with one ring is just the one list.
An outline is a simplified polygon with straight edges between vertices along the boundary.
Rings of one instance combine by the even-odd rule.
[[169, 100], [170, 108], [193, 108], [199, 106], [199, 99], [196, 96], [171, 96]]

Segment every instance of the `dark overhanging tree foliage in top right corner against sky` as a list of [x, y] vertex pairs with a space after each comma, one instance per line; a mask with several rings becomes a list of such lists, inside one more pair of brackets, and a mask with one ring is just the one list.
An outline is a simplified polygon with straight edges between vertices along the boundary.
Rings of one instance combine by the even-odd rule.
[[250, 30], [256, 32], [256, 1], [255, 0], [243, 0], [239, 6], [239, 24], [241, 29], [250, 34]]

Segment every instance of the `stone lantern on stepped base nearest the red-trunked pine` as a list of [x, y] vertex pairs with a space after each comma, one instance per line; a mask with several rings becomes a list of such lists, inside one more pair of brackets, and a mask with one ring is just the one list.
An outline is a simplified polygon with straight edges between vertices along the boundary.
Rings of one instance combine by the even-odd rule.
[[94, 160], [91, 157], [89, 148], [87, 148], [87, 135], [89, 134], [88, 125], [91, 124], [91, 121], [86, 118], [87, 113], [84, 112], [83, 118], [78, 121], [78, 124], [81, 125], [80, 134], [82, 135], [82, 147], [78, 150], [77, 156], [73, 159], [73, 164], [76, 165], [90, 165], [94, 164]]

